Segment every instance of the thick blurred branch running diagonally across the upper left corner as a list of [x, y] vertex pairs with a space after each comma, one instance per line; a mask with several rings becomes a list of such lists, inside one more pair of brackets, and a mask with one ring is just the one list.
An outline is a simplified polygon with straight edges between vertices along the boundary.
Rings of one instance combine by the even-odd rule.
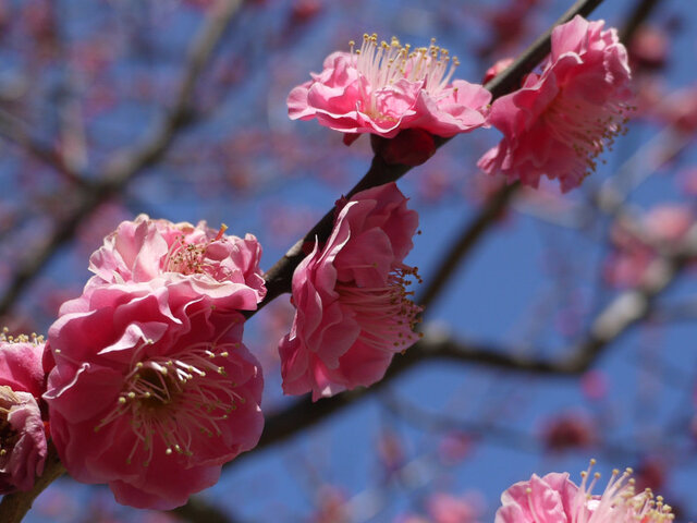
[[242, 0], [224, 0], [209, 11], [206, 22], [189, 47], [171, 109], [142, 143], [115, 153], [107, 161], [100, 181], [80, 192], [77, 203], [59, 220], [52, 234], [24, 258], [0, 297], [0, 316], [12, 308], [25, 287], [34, 280], [58, 248], [73, 238], [80, 223], [101, 203], [121, 192], [136, 174], [161, 159], [175, 136], [193, 123], [192, 98], [196, 81], [241, 5]]

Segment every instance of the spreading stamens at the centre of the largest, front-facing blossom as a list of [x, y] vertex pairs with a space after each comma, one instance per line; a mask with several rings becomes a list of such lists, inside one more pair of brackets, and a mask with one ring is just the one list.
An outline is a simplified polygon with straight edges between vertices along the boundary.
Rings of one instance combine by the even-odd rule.
[[[148, 342], [151, 343], [151, 342]], [[245, 399], [234, 391], [221, 358], [239, 343], [201, 342], [169, 356], [154, 356], [132, 364], [115, 405], [95, 426], [99, 431], [127, 416], [135, 442], [126, 463], [143, 446], [147, 466], [159, 438], [166, 454], [193, 455], [192, 447], [201, 436], [221, 434], [219, 423], [228, 418]]]

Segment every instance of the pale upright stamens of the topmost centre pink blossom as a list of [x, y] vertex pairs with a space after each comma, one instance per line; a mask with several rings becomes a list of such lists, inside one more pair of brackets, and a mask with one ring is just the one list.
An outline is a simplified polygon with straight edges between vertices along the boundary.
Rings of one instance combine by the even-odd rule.
[[356, 57], [356, 69], [370, 85], [370, 107], [365, 108], [366, 111], [376, 110], [377, 90], [401, 78], [424, 82], [424, 89], [436, 96], [449, 84], [455, 68], [460, 65], [457, 57], [451, 60], [448, 49], [438, 47], [435, 38], [429, 47], [414, 50], [408, 44], [402, 46], [395, 37], [390, 44], [384, 40], [378, 44], [376, 34], [363, 35], [360, 49], [354, 49], [353, 40], [348, 45], [351, 53]]

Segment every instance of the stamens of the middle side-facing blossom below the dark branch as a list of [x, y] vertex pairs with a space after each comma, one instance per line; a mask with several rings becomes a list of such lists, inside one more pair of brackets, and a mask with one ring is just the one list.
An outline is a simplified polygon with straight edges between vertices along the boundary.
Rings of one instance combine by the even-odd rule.
[[408, 349], [423, 337], [414, 332], [421, 307], [412, 301], [409, 278], [421, 283], [416, 267], [400, 265], [389, 273], [383, 287], [357, 287], [355, 282], [337, 284], [343, 305], [350, 306], [360, 325], [360, 341], [386, 352]]

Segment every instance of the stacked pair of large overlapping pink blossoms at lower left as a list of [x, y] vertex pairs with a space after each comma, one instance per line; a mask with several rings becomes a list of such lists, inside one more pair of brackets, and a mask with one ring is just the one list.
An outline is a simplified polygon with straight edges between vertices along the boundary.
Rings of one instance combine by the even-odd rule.
[[49, 329], [51, 437], [68, 472], [117, 500], [171, 509], [256, 446], [261, 369], [242, 344], [266, 290], [254, 236], [123, 222]]

